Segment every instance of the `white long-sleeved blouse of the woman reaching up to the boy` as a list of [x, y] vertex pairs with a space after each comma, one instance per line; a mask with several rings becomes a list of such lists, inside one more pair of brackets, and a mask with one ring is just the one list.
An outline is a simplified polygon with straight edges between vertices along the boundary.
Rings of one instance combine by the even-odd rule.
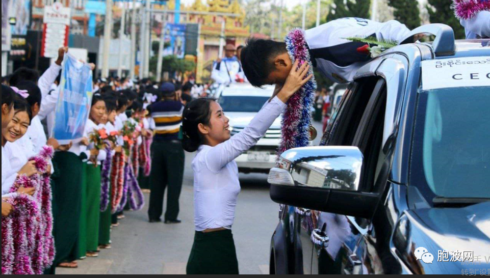
[[215, 147], [199, 147], [192, 160], [196, 231], [231, 229], [240, 193], [238, 166], [234, 159], [264, 136], [285, 107], [286, 104], [275, 97], [242, 132]]

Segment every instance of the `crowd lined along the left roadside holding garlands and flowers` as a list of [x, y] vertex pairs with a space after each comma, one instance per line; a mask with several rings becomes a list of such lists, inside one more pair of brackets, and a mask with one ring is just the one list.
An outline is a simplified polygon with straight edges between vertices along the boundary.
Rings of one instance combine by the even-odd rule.
[[[182, 113], [186, 103], [206, 95], [203, 86], [95, 80], [83, 138], [61, 145], [52, 130], [66, 52], [61, 48], [41, 76], [19, 68], [2, 80], [2, 274], [54, 273], [57, 266], [76, 268], [77, 260], [97, 257], [111, 248], [111, 229], [124, 210], [143, 207], [143, 191], [151, 192], [151, 223], [161, 221], [166, 189], [165, 223], [180, 222]], [[21, 199], [31, 201], [33, 218], [19, 209]], [[12, 240], [22, 232], [19, 225], [33, 238]], [[38, 252], [37, 240], [46, 252]]]

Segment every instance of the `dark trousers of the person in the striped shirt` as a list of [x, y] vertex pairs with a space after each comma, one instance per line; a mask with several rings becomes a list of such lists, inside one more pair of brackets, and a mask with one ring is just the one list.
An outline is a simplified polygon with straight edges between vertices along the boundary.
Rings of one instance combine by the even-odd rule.
[[155, 141], [151, 144], [150, 205], [148, 217], [160, 219], [163, 196], [167, 192], [165, 220], [175, 220], [178, 215], [178, 198], [184, 178], [185, 154], [180, 141]]

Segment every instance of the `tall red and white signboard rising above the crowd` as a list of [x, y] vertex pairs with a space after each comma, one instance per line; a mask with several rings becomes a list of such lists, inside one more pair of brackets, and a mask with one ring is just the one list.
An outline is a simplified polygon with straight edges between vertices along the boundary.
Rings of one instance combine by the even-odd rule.
[[70, 31], [70, 8], [60, 2], [44, 7], [41, 55], [46, 58], [58, 57], [58, 49], [68, 46]]

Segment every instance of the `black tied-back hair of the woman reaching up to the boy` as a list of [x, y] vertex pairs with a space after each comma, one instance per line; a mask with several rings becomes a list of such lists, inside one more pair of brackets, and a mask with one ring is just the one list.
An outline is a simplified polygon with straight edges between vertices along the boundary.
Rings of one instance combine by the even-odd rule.
[[187, 103], [184, 108], [182, 120], [182, 147], [187, 152], [195, 152], [203, 144], [202, 134], [199, 132], [198, 125], [209, 125], [211, 119], [211, 102], [216, 101], [212, 98], [198, 98]]

